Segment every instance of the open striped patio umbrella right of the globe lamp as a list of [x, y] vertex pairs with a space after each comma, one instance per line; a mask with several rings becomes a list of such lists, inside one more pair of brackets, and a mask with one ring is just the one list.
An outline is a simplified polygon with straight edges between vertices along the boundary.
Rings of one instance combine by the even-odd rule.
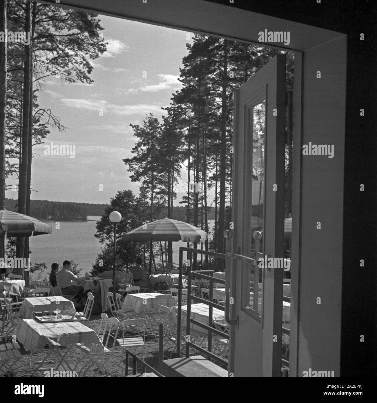
[[127, 241], [167, 241], [167, 242], [193, 242], [206, 241], [208, 235], [199, 228], [187, 222], [163, 218], [162, 220], [148, 222], [122, 235], [123, 242]]

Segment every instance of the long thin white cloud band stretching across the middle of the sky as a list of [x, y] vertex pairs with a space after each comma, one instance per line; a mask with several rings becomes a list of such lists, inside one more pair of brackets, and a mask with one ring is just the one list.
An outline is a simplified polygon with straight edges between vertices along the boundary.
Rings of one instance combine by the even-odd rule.
[[65, 106], [75, 109], [96, 110], [103, 109], [104, 113], [113, 113], [118, 116], [131, 116], [135, 114], [162, 114], [161, 106], [150, 104], [116, 105], [105, 100], [87, 100], [83, 98], [62, 98]]

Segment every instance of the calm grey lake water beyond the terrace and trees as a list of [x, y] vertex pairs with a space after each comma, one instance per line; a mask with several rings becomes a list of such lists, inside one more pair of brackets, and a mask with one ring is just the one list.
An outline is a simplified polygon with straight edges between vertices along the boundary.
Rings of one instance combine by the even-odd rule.
[[[29, 247], [32, 251], [30, 264], [46, 264], [48, 271], [42, 272], [42, 278], [48, 276], [52, 263], [56, 262], [62, 266], [65, 260], [77, 263], [77, 268], [83, 269], [82, 274], [90, 272], [94, 260], [101, 251], [101, 245], [94, 237], [96, 222], [100, 218], [100, 216], [88, 216], [88, 220], [92, 221], [60, 221], [60, 229], [55, 229], [56, 221], [44, 220], [52, 226], [52, 234], [29, 238]], [[209, 234], [212, 233], [214, 225], [215, 220], [208, 221]], [[173, 262], [177, 264], [180, 246], [187, 246], [187, 243], [173, 242]], [[200, 248], [200, 244], [198, 247]], [[183, 256], [185, 258], [185, 253]], [[160, 253], [155, 253], [155, 259], [156, 263], [160, 261]]]

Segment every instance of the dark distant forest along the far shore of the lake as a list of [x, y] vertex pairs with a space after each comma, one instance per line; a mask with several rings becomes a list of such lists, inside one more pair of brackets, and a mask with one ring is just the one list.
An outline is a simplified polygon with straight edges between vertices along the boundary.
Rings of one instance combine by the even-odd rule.
[[[30, 200], [31, 217], [38, 220], [87, 221], [88, 216], [102, 216], [109, 204], [52, 202], [50, 200]], [[5, 208], [17, 212], [17, 199], [5, 198]], [[167, 216], [162, 208], [160, 218]], [[187, 209], [173, 206], [173, 219], [187, 221]], [[215, 209], [208, 207], [208, 220], [215, 219]]]

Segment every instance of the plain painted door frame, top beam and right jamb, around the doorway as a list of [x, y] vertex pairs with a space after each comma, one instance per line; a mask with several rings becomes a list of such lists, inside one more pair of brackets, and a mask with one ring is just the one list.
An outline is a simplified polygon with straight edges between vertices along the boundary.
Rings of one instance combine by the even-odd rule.
[[[291, 277], [290, 376], [302, 376], [309, 366], [340, 376], [347, 35], [204, 0], [37, 1], [250, 44], [261, 44], [259, 32], [265, 29], [290, 32], [287, 46], [262, 42], [295, 53], [292, 263], [296, 270]], [[323, 104], [317, 102], [321, 96]], [[331, 116], [329, 103], [335, 105]], [[302, 145], [310, 141], [331, 141], [337, 158], [303, 158]], [[326, 182], [319, 180], [320, 175], [327, 175]], [[320, 232], [313, 230], [318, 221], [323, 223]], [[321, 251], [315, 259], [313, 250]], [[319, 294], [322, 306], [313, 303]], [[319, 346], [321, 357], [312, 354]]]

